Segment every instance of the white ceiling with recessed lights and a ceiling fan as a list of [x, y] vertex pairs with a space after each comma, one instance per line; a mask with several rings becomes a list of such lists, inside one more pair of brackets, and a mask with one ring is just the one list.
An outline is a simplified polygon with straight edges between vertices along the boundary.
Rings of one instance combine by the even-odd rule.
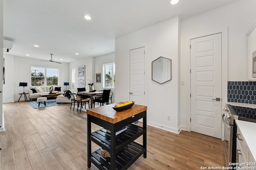
[[8, 54], [50, 59], [53, 53], [55, 61], [70, 63], [114, 52], [116, 38], [160, 21], [189, 18], [236, 1], [4, 0], [4, 39], [13, 42]]

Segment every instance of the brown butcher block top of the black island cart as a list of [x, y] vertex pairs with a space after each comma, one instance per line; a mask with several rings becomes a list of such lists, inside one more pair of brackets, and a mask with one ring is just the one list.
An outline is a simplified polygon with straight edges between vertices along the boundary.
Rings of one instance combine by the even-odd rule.
[[148, 108], [147, 106], [134, 104], [130, 109], [126, 109], [124, 111], [115, 111], [112, 106], [120, 103], [123, 102], [87, 109], [86, 113], [110, 123], [117, 123], [127, 119], [128, 117], [141, 113], [142, 111], [146, 111]]

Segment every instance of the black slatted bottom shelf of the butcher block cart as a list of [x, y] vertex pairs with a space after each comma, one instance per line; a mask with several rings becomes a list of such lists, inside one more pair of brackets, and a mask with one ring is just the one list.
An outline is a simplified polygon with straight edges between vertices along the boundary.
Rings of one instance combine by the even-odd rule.
[[[132, 142], [124, 149], [120, 150], [116, 154], [116, 169], [127, 169], [131, 164], [133, 164], [143, 153], [145, 148], [142, 145]], [[101, 150], [98, 149], [92, 152], [90, 161], [93, 162], [99, 169], [105, 170], [110, 169], [110, 157], [103, 158], [101, 155]]]

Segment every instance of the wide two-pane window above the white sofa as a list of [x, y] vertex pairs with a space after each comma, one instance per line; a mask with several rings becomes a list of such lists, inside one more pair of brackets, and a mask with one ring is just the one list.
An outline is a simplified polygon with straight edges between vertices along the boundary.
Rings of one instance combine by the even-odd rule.
[[31, 67], [31, 86], [58, 85], [58, 68]]

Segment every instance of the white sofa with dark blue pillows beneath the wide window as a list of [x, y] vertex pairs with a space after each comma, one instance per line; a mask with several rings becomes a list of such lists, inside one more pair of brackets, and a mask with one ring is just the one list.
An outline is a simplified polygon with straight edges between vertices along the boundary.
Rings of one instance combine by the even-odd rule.
[[[28, 96], [29, 96], [30, 100], [39, 98], [39, 97], [40, 97], [40, 94], [49, 94], [49, 92], [50, 92], [50, 87], [51, 87], [51, 86], [36, 86], [36, 87], [30, 87], [30, 89], [28, 90]], [[63, 88], [60, 88], [60, 91], [57, 92], [57, 91], [55, 90], [55, 87], [58, 87], [58, 86], [53, 86], [52, 92], [64, 94]], [[33, 90], [31, 90], [31, 89], [33, 89], [33, 88], [36, 90], [36, 93], [33, 93]]]

